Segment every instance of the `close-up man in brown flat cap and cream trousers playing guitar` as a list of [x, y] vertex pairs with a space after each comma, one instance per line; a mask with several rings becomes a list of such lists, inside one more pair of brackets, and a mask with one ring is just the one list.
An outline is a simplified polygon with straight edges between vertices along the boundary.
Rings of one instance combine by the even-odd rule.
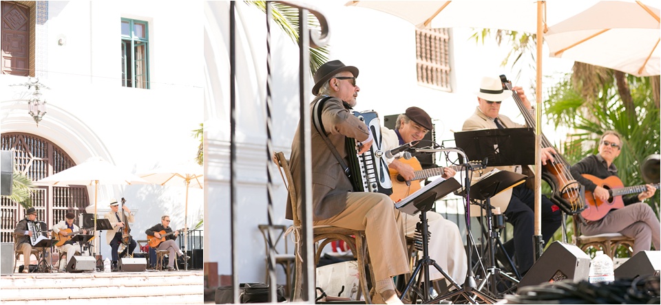
[[[419, 141], [432, 130], [432, 119], [423, 110], [418, 107], [406, 109], [397, 117], [395, 131], [382, 127], [383, 148], [391, 150], [402, 144]], [[423, 146], [429, 146], [430, 144]], [[405, 198], [411, 192], [419, 190], [420, 181], [412, 181], [415, 176], [415, 170], [412, 164], [421, 169], [419, 161], [415, 157], [410, 160], [403, 158], [388, 159], [390, 162], [388, 168], [391, 169], [390, 179], [392, 180], [392, 195], [390, 198], [395, 202]], [[400, 174], [407, 182], [399, 182], [393, 177], [393, 173]], [[443, 168], [442, 176], [445, 179], [454, 177], [455, 170], [452, 168]], [[439, 173], [441, 174], [441, 173]], [[411, 188], [411, 185], [416, 185]], [[418, 216], [404, 214], [406, 236], [412, 238], [415, 234], [415, 228], [419, 221]], [[429, 231], [431, 238], [429, 241], [429, 256], [434, 259], [439, 266], [457, 283], [462, 284], [468, 271], [468, 258], [463, 247], [463, 240], [459, 233], [459, 227], [452, 221], [443, 218], [441, 214], [427, 213]], [[443, 275], [436, 269], [430, 268], [430, 280], [439, 280]], [[439, 291], [440, 293], [440, 291]]]

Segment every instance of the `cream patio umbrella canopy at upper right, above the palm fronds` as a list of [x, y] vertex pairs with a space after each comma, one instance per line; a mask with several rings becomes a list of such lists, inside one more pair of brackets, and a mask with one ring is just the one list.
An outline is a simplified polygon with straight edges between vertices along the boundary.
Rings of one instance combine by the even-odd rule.
[[659, 9], [640, 1], [600, 1], [549, 27], [552, 57], [616, 69], [634, 76], [661, 74]]

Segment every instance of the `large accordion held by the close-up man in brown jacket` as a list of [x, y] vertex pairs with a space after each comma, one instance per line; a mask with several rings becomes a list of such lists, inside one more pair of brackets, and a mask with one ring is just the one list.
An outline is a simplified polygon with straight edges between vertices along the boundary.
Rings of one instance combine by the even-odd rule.
[[392, 182], [390, 181], [388, 164], [380, 157], [380, 153], [377, 156], [377, 151], [382, 151], [381, 145], [383, 144], [379, 115], [375, 111], [352, 111], [352, 113], [365, 122], [374, 137], [372, 147], [361, 155], [358, 155], [359, 148], [357, 147], [360, 142], [350, 137], [346, 138], [348, 167], [351, 171], [350, 180], [353, 184], [353, 190], [355, 192], [379, 192], [390, 195], [392, 194]]

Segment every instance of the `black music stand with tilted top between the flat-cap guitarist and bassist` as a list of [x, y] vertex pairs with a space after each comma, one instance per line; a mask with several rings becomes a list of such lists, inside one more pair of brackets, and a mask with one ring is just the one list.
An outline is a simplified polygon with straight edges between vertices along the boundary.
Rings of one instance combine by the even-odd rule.
[[[496, 267], [496, 257], [494, 249], [494, 240], [499, 238], [499, 232], [493, 231], [493, 214], [492, 210], [494, 207], [491, 205], [491, 197], [514, 188], [516, 185], [519, 185], [525, 182], [527, 177], [523, 174], [516, 174], [515, 172], [508, 172], [506, 170], [497, 170], [494, 169], [488, 174], [485, 174], [479, 181], [471, 185], [469, 191], [469, 198], [482, 201], [482, 207], [486, 211], [486, 220], [487, 220], [487, 247], [489, 248], [489, 258], [490, 258], [490, 267], [487, 268], [487, 273], [485, 278], [482, 280], [480, 285], [477, 287], [477, 290], [481, 290], [483, 286], [491, 280], [491, 293], [494, 297], [498, 297], [499, 293], [496, 289], [497, 279], [496, 276], [503, 276], [518, 284], [518, 280], [512, 278], [507, 273], [503, 272], [501, 269]], [[465, 190], [459, 193], [459, 196], [465, 196]], [[512, 265], [516, 270], [516, 267]], [[518, 274], [518, 272], [516, 272]]]

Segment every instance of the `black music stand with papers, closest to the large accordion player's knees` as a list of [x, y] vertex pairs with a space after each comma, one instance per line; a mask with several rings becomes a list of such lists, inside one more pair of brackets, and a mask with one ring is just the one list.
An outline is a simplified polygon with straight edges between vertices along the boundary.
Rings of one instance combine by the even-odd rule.
[[[401, 212], [405, 212], [408, 214], [417, 214], [420, 212], [420, 222], [417, 225], [417, 233], [419, 233], [420, 237], [416, 236], [416, 239], [421, 239], [421, 240], [416, 240], [416, 245], [422, 244], [422, 253], [423, 256], [418, 260], [417, 266], [415, 267], [415, 270], [411, 274], [411, 278], [408, 280], [408, 283], [406, 284], [406, 288], [402, 291], [401, 293], [401, 300], [403, 300], [404, 297], [406, 297], [406, 293], [408, 293], [408, 290], [411, 288], [414, 282], [422, 282], [422, 301], [427, 302], [430, 300], [430, 280], [429, 280], [429, 266], [434, 266], [436, 269], [446, 278], [448, 279], [453, 286], [457, 287], [457, 289], [460, 288], [459, 284], [455, 282], [448, 273], [446, 273], [439, 264], [436, 263], [436, 261], [432, 260], [429, 257], [429, 241], [428, 241], [428, 236], [429, 236], [429, 231], [428, 231], [428, 221], [427, 221], [427, 211], [431, 210], [432, 205], [434, 205], [434, 202], [437, 201], [438, 199], [443, 198], [444, 196], [450, 194], [451, 192], [454, 192], [454, 190], [457, 190], [458, 188], [461, 188], [461, 184], [457, 182], [454, 178], [450, 179], [436, 179], [432, 181], [432, 183], [429, 183], [428, 185], [425, 185], [423, 188], [420, 190], [417, 190], [413, 194], [410, 194], [409, 196], [406, 197], [406, 199], [399, 201], [395, 206], [397, 209], [399, 209]], [[419, 249], [419, 248], [418, 248]], [[422, 271], [421, 277], [416, 279], [416, 275]]]

